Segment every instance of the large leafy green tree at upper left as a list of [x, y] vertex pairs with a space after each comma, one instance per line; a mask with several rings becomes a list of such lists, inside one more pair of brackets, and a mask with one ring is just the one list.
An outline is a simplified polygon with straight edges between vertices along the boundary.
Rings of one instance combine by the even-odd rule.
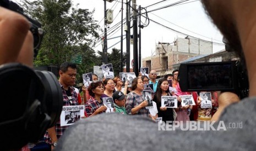
[[92, 17], [94, 11], [73, 7], [71, 0], [24, 0], [21, 5], [32, 18], [40, 20], [45, 30], [35, 65], [59, 66], [75, 54], [82, 54], [80, 72], [93, 67], [96, 55], [89, 45], [99, 37], [99, 25]]

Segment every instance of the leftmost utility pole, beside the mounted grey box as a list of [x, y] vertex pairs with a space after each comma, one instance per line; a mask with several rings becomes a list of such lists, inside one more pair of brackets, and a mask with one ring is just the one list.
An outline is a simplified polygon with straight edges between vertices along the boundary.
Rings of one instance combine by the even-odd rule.
[[107, 64], [107, 6], [104, 0], [104, 51], [102, 52], [103, 63]]

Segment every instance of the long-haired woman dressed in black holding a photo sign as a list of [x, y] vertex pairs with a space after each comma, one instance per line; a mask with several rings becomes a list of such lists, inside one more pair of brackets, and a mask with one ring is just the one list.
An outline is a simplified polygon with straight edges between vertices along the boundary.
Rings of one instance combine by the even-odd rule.
[[153, 101], [156, 102], [158, 117], [162, 117], [162, 121], [174, 121], [173, 108], [161, 107], [161, 97], [162, 96], [172, 96], [169, 92], [169, 83], [166, 78], [162, 78], [158, 81], [156, 93]]

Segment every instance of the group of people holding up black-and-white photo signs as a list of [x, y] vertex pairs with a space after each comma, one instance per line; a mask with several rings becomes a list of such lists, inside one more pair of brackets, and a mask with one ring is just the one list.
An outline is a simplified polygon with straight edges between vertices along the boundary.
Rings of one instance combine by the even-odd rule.
[[[67, 66], [70, 66], [70, 68]], [[66, 62], [66, 68], [61, 68], [60, 73], [68, 72], [68, 69], [73, 69], [73, 66], [75, 65]], [[66, 74], [71, 75], [69, 73]], [[141, 75], [141, 73], [139, 73], [138, 77], [132, 80], [132, 85], [130, 87], [128, 87], [128, 81], [123, 86], [123, 81], [119, 76], [113, 79], [104, 78], [102, 81], [100, 81], [98, 80], [97, 75], [93, 74], [93, 82], [91, 82], [89, 86], [83, 86], [84, 102], [82, 103], [81, 101], [79, 101], [75, 102], [76, 104], [72, 104], [69, 101], [64, 101], [67, 103], [64, 103], [63, 105], [69, 106], [83, 104], [85, 106], [84, 118], [90, 118], [94, 115], [104, 114], [111, 111], [127, 115], [141, 115], [143, 117], [148, 117], [155, 122], [158, 121], [157, 118], [161, 118], [161, 120], [165, 122], [210, 120], [211, 116], [216, 112], [218, 108], [217, 93], [210, 92], [210, 94], [212, 95], [211, 98], [209, 99], [211, 100], [211, 102], [213, 102], [212, 108], [202, 109], [200, 104], [202, 100], [204, 100], [204, 98], [200, 97], [200, 92], [182, 92], [181, 89], [179, 88], [178, 74], [180, 74], [179, 71], [175, 70], [173, 71], [172, 74], [167, 74], [164, 78], [157, 80], [157, 74], [155, 70], [150, 71], [149, 77], [146, 75]], [[59, 80], [61, 85], [63, 85], [64, 83], [62, 79], [63, 77], [61, 76]], [[149, 83], [153, 84], [153, 89], [144, 86], [145, 84]], [[172, 87], [173, 89], [177, 89], [177, 91], [171, 91], [169, 89], [170, 87]], [[68, 96], [72, 94], [71, 96], [73, 97], [78, 96], [78, 94], [75, 95], [75, 93], [73, 92], [72, 83], [68, 84], [68, 87], [66, 89], [63, 87], [63, 96], [66, 96], [66, 94]], [[143, 90], [149, 90], [151, 92], [151, 98], [152, 101], [154, 102], [151, 108], [147, 108], [147, 106], [149, 106], [149, 103], [152, 102], [150, 102], [149, 99], [147, 99], [149, 97], [148, 95], [143, 96]], [[184, 100], [186, 106], [182, 106], [182, 99], [180, 97], [182, 95], [192, 95], [195, 105], [192, 105], [191, 100], [186, 102], [186, 98], [186, 100]], [[162, 96], [176, 96], [178, 104], [177, 107], [174, 108], [173, 102], [173, 105], [170, 106], [170, 100], [168, 100], [169, 102], [167, 102], [169, 106], [162, 106]], [[111, 103], [109, 101], [109, 98], [111, 97], [113, 98], [113, 105], [110, 108], [109, 104]], [[107, 98], [107, 103], [109, 104], [104, 103], [104, 98]], [[202, 113], [204, 114], [204, 117], [202, 117]], [[57, 142], [57, 140], [61, 137], [61, 135], [63, 134], [64, 130], [67, 129], [67, 127], [68, 126], [60, 127], [59, 125], [56, 125], [55, 132], [51, 132], [52, 128], [48, 129], [45, 135], [46, 143], [48, 143], [49, 145], [55, 144], [55, 142]], [[56, 132], [58, 132], [58, 135], [55, 134]], [[51, 133], [55, 135], [50, 135]], [[54, 146], [52, 147], [54, 148]]]

